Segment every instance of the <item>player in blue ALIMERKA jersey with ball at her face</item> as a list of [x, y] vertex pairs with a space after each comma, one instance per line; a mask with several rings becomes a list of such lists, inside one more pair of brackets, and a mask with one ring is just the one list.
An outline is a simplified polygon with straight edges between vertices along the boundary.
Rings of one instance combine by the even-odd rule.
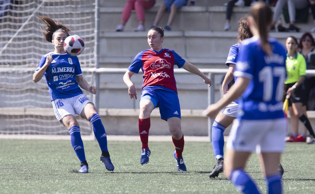
[[106, 132], [100, 115], [80, 87], [92, 94], [96, 94], [97, 89], [84, 80], [78, 58], [67, 54], [63, 48], [64, 40], [69, 36], [70, 30], [49, 17], [39, 16], [39, 18], [47, 27], [47, 32], [42, 30], [44, 38], [52, 42], [54, 51], [42, 57], [33, 75], [33, 81], [38, 82], [43, 75], [46, 78], [55, 116], [69, 130], [72, 147], [80, 160], [81, 169], [78, 172], [88, 173], [89, 167], [85, 159], [76, 113], [92, 123], [95, 137], [102, 151], [100, 160], [107, 170], [112, 171], [114, 166], [107, 149]]

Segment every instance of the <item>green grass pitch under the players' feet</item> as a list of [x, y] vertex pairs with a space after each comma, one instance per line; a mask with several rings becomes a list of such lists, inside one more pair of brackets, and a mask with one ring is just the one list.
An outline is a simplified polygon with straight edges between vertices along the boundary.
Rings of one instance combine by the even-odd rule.
[[[210, 179], [215, 164], [209, 142], [186, 142], [187, 172], [176, 170], [172, 142], [149, 142], [150, 162], [140, 165], [141, 143], [109, 141], [115, 170], [100, 162], [97, 141], [84, 141], [88, 174], [75, 173], [70, 141], [0, 140], [0, 193], [238, 193], [223, 174]], [[282, 158], [284, 193], [315, 193], [315, 146], [288, 143]], [[262, 193], [265, 182], [255, 154], [247, 168]]]

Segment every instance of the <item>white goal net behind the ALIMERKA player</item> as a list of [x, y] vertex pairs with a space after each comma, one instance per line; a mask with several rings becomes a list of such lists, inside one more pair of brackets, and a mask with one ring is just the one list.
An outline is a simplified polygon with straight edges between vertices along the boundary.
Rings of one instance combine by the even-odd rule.
[[[81, 68], [95, 67], [93, 0], [0, 1], [0, 134], [68, 134], [54, 116], [45, 78], [34, 83], [32, 75], [42, 56], [54, 50], [43, 39], [45, 26], [38, 16], [48, 16], [84, 39], [78, 56]], [[89, 83], [92, 73], [84, 72]], [[91, 100], [92, 96], [83, 91]], [[79, 119], [81, 134], [91, 134], [90, 123]]]

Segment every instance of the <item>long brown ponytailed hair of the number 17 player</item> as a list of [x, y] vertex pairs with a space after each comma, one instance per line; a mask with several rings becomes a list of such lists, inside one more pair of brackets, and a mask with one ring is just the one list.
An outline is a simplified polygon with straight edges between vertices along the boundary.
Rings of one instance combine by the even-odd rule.
[[272, 10], [267, 3], [257, 2], [250, 8], [249, 13], [256, 24], [262, 50], [270, 55], [272, 50], [268, 42], [268, 30], [272, 21]]

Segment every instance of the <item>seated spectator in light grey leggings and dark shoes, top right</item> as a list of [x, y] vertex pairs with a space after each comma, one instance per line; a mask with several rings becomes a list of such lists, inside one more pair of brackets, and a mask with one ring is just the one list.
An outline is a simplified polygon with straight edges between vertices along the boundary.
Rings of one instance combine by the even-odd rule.
[[273, 30], [273, 31], [275, 30], [275, 24], [279, 19], [279, 16], [282, 12], [282, 8], [286, 4], [288, 5], [288, 9], [289, 9], [290, 25], [289, 25], [289, 28], [285, 28], [281, 24], [278, 24], [278, 31], [279, 32], [300, 31], [300, 28], [295, 26], [295, 12], [296, 12], [296, 9], [305, 8], [308, 5], [307, 0], [278, 0], [278, 2], [276, 3], [276, 7], [274, 9], [273, 21], [272, 21], [270, 30]]

